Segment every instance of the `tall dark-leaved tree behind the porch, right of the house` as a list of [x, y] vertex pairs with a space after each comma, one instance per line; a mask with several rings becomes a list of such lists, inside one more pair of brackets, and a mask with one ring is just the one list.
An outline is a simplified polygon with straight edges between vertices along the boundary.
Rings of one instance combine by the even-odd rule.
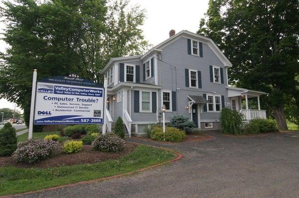
[[212, 38], [233, 67], [230, 81], [267, 92], [262, 101], [287, 129], [284, 105], [298, 96], [299, 1], [210, 0], [199, 34]]

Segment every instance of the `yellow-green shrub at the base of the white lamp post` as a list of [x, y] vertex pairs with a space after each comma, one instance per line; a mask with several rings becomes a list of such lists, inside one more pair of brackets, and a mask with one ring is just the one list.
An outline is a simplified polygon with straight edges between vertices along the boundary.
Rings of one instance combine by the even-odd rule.
[[[163, 141], [163, 129], [161, 127], [153, 127], [150, 133], [150, 138], [153, 140]], [[165, 141], [180, 142], [185, 138], [186, 132], [180, 131], [174, 127], [165, 128]]]

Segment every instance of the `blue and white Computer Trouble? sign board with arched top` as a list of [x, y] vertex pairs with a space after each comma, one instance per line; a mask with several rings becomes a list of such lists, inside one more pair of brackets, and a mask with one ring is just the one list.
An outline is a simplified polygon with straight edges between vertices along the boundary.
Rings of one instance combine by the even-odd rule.
[[57, 76], [36, 84], [34, 125], [104, 123], [104, 88], [79, 78]]

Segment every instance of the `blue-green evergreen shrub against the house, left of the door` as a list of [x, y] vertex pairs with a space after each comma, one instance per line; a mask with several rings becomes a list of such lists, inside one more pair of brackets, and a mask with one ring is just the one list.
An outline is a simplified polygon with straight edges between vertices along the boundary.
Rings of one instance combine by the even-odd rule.
[[184, 116], [173, 116], [170, 119], [170, 123], [168, 124], [168, 126], [175, 127], [187, 133], [191, 132], [195, 127], [193, 121], [189, 120]]

